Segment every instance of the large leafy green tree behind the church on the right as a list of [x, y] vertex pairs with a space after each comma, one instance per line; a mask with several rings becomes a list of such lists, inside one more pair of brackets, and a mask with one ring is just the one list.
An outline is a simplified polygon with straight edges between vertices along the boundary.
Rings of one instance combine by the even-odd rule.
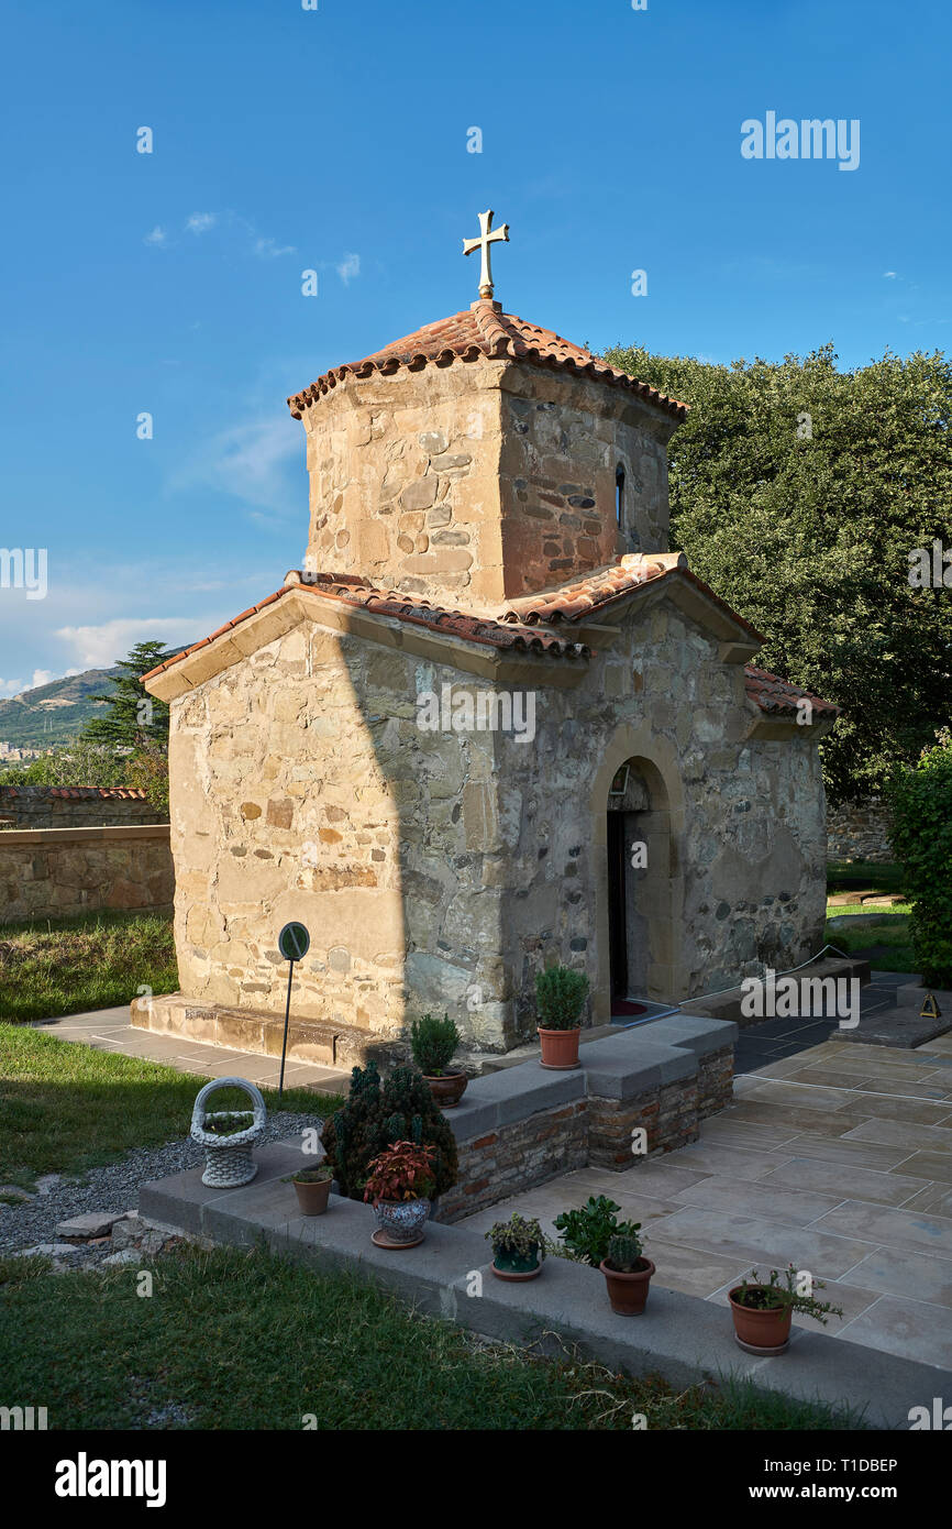
[[952, 717], [952, 587], [909, 581], [917, 547], [952, 541], [952, 364], [605, 359], [691, 405], [672, 546], [764, 633], [758, 662], [844, 708], [821, 745], [831, 800], [882, 790]]

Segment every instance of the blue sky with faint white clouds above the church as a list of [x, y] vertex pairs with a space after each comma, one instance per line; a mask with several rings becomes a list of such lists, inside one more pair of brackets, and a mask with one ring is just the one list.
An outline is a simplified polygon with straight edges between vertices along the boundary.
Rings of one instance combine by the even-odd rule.
[[[0, 589], [0, 696], [280, 587], [307, 535], [286, 396], [466, 307], [487, 206], [503, 306], [593, 349], [949, 347], [935, 0], [318, 6], [8, 0], [0, 546], [49, 572]], [[859, 168], [744, 159], [767, 112], [859, 119]]]

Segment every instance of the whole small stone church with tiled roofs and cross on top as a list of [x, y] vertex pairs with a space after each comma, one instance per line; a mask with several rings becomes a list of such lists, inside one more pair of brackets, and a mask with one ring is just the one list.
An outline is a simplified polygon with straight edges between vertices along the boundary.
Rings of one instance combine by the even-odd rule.
[[280, 1050], [290, 919], [342, 1066], [428, 1009], [512, 1047], [552, 960], [604, 1023], [822, 945], [836, 706], [668, 550], [686, 407], [506, 313], [489, 223], [471, 307], [289, 399], [303, 567], [147, 676], [182, 991], [139, 1024]]

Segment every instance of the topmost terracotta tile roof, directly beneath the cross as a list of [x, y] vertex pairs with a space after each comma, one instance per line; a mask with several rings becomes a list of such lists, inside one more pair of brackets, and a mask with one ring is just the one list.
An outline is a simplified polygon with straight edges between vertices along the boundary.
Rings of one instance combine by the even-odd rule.
[[463, 309], [460, 313], [440, 318], [434, 324], [425, 324], [413, 335], [394, 339], [382, 350], [364, 356], [362, 361], [333, 367], [310, 387], [289, 398], [287, 404], [295, 419], [300, 419], [309, 404], [316, 402], [347, 376], [367, 378], [374, 372], [390, 375], [402, 365], [419, 370], [431, 362], [451, 365], [454, 361], [475, 361], [478, 356], [489, 356], [495, 361], [527, 361], [532, 365], [610, 382], [614, 387], [628, 388], [646, 404], [663, 408], [677, 420], [683, 420], [688, 413], [686, 404], [668, 398], [648, 382], [636, 382], [627, 372], [616, 372], [584, 346], [575, 346], [552, 329], [529, 324], [524, 318], [516, 318], [515, 313], [503, 313], [498, 304], [489, 301], [474, 303], [472, 307]]

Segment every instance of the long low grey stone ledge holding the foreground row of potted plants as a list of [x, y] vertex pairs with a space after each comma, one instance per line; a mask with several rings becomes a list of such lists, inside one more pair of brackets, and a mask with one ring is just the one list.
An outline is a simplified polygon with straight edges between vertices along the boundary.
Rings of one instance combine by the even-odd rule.
[[[287, 1173], [300, 1151], [283, 1147]], [[258, 1156], [267, 1151], [261, 1148]], [[665, 1289], [663, 1260], [645, 1313], [633, 1318], [611, 1310], [597, 1269], [564, 1258], [547, 1258], [538, 1280], [497, 1280], [489, 1243], [465, 1223], [428, 1222], [417, 1248], [379, 1249], [371, 1242], [376, 1223], [368, 1205], [332, 1194], [327, 1214], [303, 1217], [277, 1162], [272, 1150], [269, 1177], [241, 1190], [208, 1190], [199, 1168], [144, 1185], [142, 1214], [160, 1211], [182, 1232], [217, 1243], [252, 1248], [264, 1240], [274, 1252], [313, 1269], [347, 1271], [385, 1284], [414, 1310], [484, 1338], [520, 1347], [538, 1342], [541, 1352], [559, 1358], [562, 1341], [568, 1341], [611, 1370], [662, 1375], [678, 1390], [711, 1373], [733, 1375], [763, 1390], [853, 1407], [879, 1428], [908, 1428], [911, 1408], [935, 1390], [940, 1372], [932, 1365], [804, 1329], [793, 1330], [782, 1356], [746, 1355], [733, 1341], [723, 1306]]]

